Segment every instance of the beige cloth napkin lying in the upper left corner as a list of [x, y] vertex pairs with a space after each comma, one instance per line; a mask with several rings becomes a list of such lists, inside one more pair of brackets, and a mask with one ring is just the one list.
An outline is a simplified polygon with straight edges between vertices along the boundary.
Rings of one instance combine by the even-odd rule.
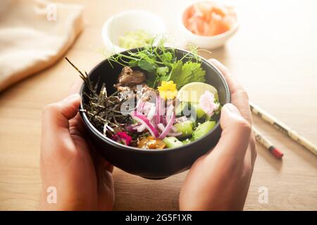
[[0, 1], [0, 92], [54, 64], [83, 27], [80, 5]]

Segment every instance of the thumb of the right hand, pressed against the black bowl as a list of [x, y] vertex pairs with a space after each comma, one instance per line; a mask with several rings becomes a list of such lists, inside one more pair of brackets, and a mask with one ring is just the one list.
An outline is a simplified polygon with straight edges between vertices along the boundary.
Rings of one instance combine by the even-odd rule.
[[228, 103], [221, 110], [220, 126], [223, 131], [213, 154], [228, 160], [243, 160], [249, 146], [251, 124], [242, 117], [235, 105]]

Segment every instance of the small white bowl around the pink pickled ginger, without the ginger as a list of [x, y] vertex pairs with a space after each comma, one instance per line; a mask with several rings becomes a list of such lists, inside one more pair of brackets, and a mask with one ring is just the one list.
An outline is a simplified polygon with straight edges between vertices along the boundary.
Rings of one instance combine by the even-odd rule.
[[[201, 1], [204, 2], [204, 1]], [[211, 1], [211, 2], [216, 2], [216, 1]], [[180, 23], [180, 30], [184, 34], [184, 38], [187, 44], [194, 44], [195, 46], [198, 46], [200, 49], [217, 49], [225, 44], [225, 42], [230, 39], [230, 37], [237, 32], [237, 29], [239, 27], [239, 23], [236, 20], [235, 25], [233, 25], [230, 30], [222, 33], [222, 34], [217, 34], [214, 36], [202, 36], [198, 34], [194, 34], [191, 31], [187, 30], [183, 23], [183, 15], [187, 8], [192, 6], [193, 4], [197, 4], [199, 1], [195, 1], [194, 3], [192, 2], [191, 4], [188, 4], [183, 8], [183, 10], [180, 13], [180, 17], [178, 20], [178, 23]], [[221, 2], [220, 2], [221, 3]], [[227, 4], [225, 4], [227, 5]], [[235, 11], [237, 14], [237, 11]]]

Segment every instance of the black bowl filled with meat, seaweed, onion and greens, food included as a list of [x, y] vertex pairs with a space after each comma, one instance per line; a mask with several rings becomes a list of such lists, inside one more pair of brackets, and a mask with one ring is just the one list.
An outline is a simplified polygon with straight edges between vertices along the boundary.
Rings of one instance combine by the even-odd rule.
[[[178, 89], [173, 81], [161, 80], [153, 84], [153, 82], [144, 80], [149, 76], [149, 68], [127, 61], [130, 60], [130, 56], [135, 56], [143, 50], [144, 48], [138, 48], [117, 53], [111, 58], [101, 61], [88, 74], [84, 75], [85, 82], [80, 89], [82, 102], [79, 110], [94, 147], [108, 162], [130, 174], [147, 179], [163, 179], [189, 169], [197, 158], [216, 146], [221, 134], [220, 108], [221, 105], [230, 103], [230, 90], [220, 71], [207, 60], [182, 49], [170, 50], [175, 57], [174, 63], [182, 61], [180, 64], [185, 65], [190, 64], [187, 63], [190, 60], [192, 63], [199, 63], [200, 69], [196, 72], [204, 71], [204, 79], [191, 86], [198, 86], [199, 89], [203, 90], [204, 86], [207, 86], [208, 89], [208, 85], [211, 84], [213, 89], [216, 89], [216, 93], [211, 94], [211, 96], [214, 97], [212, 101], [218, 104], [216, 105], [218, 113], [216, 113], [215, 105], [213, 113], [206, 113], [206, 109], [201, 110], [199, 103], [187, 103], [186, 101], [190, 97], [179, 95], [185, 92], [180, 91], [182, 88], [190, 89], [190, 85], [189, 88], [185, 84]], [[126, 63], [130, 66], [127, 66]], [[179, 79], [179, 83], [182, 82], [184, 80], [182, 79], [183, 74], [171, 75], [176, 70], [173, 67], [174, 64], [170, 68], [169, 74], [168, 69], [165, 69], [166, 72], [161, 75], [175, 76], [174, 79]], [[180, 66], [180, 68], [182, 67]], [[185, 68], [183, 69], [185, 70]], [[159, 70], [155, 70], [154, 73], [156, 74], [156, 72]], [[132, 81], [132, 83], [135, 82], [134, 84], [138, 83], [140, 89], [136, 91], [133, 86], [127, 84], [125, 75], [135, 76], [134, 78], [141, 77], [143, 80], [137, 81], [135, 79]], [[160, 74], [156, 75], [159, 76], [159, 79], [167, 79], [166, 77], [161, 78]], [[192, 77], [194, 76], [196, 75], [192, 74]], [[193, 78], [189, 77], [188, 79]], [[150, 87], [149, 83], [153, 86]], [[170, 92], [164, 92], [166, 94], [164, 95], [162, 94], [164, 85], [165, 88], [169, 85], [174, 89], [168, 90]], [[155, 86], [156, 88], [154, 88]], [[144, 100], [144, 93], [142, 93], [144, 89], [150, 89], [154, 96], [146, 96], [148, 98]], [[127, 90], [128, 94], [123, 97], [122, 91]], [[137, 97], [138, 91], [141, 91], [142, 97], [140, 98]], [[94, 92], [94, 96], [89, 96], [89, 92]], [[118, 93], [119, 96], [117, 96]], [[204, 91], [200, 95], [205, 95], [206, 98], [208, 97], [206, 94], [210, 94], [210, 92]], [[200, 99], [203, 98], [201, 96]], [[178, 100], [178, 97], [185, 101]], [[197, 96], [191, 96], [191, 99], [194, 98]], [[106, 99], [107, 103], [100, 103], [103, 101], [102, 99]], [[136, 101], [129, 105], [127, 99]], [[118, 108], [107, 111], [109, 105], [113, 107], [113, 101], [121, 103], [120, 112], [118, 112]], [[122, 102], [127, 104], [123, 106]], [[99, 103], [100, 107], [94, 108]], [[109, 107], [102, 104], [108, 104]], [[204, 102], [204, 104], [208, 103]], [[194, 114], [195, 119], [192, 115], [184, 115], [184, 105], [190, 113]], [[87, 108], [94, 108], [94, 113]], [[123, 109], [127, 111], [123, 112]], [[109, 119], [109, 117], [111, 118]], [[172, 120], [173, 122], [171, 122]]]

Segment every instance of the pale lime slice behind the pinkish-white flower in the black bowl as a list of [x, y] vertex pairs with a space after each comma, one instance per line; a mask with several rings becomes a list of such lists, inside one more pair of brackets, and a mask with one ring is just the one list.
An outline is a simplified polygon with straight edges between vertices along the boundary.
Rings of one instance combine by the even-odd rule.
[[218, 91], [214, 86], [201, 82], [192, 82], [182, 86], [178, 91], [178, 99], [180, 101], [199, 103], [199, 98], [205, 91], [210, 91], [218, 100]]

